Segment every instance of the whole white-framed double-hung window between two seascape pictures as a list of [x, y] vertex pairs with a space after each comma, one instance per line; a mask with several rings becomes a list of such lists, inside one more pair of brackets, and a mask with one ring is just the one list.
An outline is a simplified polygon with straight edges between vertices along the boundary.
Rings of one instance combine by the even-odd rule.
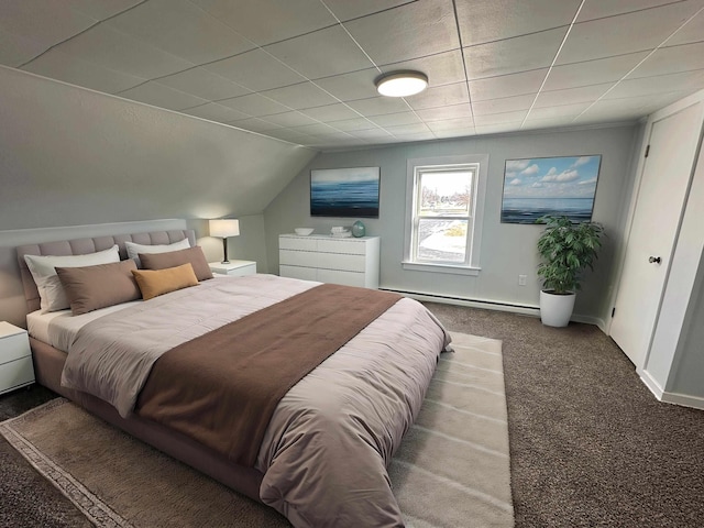
[[404, 268], [477, 275], [488, 156], [408, 161]]

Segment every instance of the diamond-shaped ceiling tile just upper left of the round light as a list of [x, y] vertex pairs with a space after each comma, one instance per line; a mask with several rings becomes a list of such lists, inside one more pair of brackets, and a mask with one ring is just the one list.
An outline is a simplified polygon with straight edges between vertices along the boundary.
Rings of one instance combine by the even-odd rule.
[[264, 50], [309, 79], [373, 66], [339, 25], [271, 44]]

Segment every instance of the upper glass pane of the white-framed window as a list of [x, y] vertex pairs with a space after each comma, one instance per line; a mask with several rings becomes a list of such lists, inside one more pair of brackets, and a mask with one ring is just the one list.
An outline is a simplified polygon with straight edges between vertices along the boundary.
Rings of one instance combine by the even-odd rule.
[[469, 215], [472, 173], [454, 170], [447, 173], [421, 173], [420, 216]]

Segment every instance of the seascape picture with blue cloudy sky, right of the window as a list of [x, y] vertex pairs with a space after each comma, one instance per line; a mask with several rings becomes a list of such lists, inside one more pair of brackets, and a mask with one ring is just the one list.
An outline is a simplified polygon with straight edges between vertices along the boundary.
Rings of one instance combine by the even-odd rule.
[[535, 223], [546, 215], [592, 220], [602, 156], [506, 160], [503, 223]]

